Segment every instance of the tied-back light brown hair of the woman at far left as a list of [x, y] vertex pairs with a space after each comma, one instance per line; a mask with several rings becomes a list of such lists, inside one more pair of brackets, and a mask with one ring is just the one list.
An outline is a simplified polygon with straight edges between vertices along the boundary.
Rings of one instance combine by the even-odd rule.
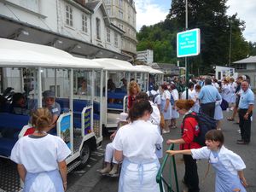
[[48, 108], [38, 108], [34, 113], [32, 113], [32, 125], [42, 132], [47, 127], [49, 127], [52, 121], [52, 115]]

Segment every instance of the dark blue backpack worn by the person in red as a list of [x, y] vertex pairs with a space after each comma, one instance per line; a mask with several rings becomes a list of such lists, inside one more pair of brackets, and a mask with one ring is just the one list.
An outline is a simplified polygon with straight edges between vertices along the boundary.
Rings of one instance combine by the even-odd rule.
[[201, 146], [206, 146], [205, 136], [207, 134], [207, 131], [214, 130], [217, 128], [217, 120], [209, 117], [205, 113], [192, 112], [192, 113], [187, 114], [184, 117], [184, 119], [189, 118], [189, 117], [195, 118], [195, 120], [198, 123], [198, 127], [199, 127], [198, 134], [197, 134], [197, 136], [194, 137], [194, 142], [199, 143]]

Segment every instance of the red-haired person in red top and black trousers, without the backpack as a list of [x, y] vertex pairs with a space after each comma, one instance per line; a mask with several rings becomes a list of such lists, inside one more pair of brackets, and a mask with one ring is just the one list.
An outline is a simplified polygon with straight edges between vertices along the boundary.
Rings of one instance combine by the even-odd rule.
[[[176, 102], [177, 112], [183, 115], [183, 122], [181, 125], [182, 137], [179, 139], [169, 139], [167, 144], [180, 144], [180, 149], [201, 148], [199, 143], [194, 142], [194, 137], [198, 136], [199, 127], [195, 118], [187, 117], [186, 115], [192, 112], [191, 108], [194, 106], [193, 100], [180, 99]], [[185, 175], [183, 183], [188, 187], [189, 191], [199, 192], [199, 178], [197, 173], [196, 160], [190, 154], [183, 154], [185, 164]]]

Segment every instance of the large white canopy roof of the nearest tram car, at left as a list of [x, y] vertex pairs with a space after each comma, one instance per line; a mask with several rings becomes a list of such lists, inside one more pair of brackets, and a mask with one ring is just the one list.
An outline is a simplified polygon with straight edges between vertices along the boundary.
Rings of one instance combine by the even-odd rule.
[[0, 38], [0, 67], [102, 69], [94, 61], [74, 57], [61, 49], [6, 38]]

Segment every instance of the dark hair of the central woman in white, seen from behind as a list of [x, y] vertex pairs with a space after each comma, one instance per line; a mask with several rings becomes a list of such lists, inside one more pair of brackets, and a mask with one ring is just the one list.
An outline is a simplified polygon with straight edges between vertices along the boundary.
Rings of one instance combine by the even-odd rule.
[[134, 102], [131, 109], [129, 110], [129, 118], [131, 119], [131, 122], [142, 118], [145, 112], [153, 112], [153, 108], [151, 107], [150, 102], [144, 99]]

